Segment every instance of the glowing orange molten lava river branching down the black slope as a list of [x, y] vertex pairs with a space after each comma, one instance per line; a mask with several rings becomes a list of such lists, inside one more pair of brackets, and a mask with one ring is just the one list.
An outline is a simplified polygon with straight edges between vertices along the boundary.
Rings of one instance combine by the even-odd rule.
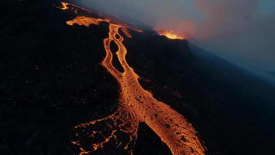
[[[61, 9], [70, 9], [68, 7], [70, 4], [62, 3], [62, 5], [63, 8]], [[75, 9], [75, 5], [73, 6], [72, 9]], [[127, 49], [122, 43], [124, 38], [119, 34], [119, 30], [122, 30], [129, 38], [131, 35], [123, 24], [113, 23], [109, 19], [87, 16], [77, 16], [73, 20], [67, 21], [67, 24], [89, 27], [90, 24], [98, 25], [102, 21], [109, 23], [109, 37], [103, 40], [106, 57], [101, 64], [119, 83], [121, 90], [119, 108], [113, 115], [75, 126], [77, 131], [85, 131], [85, 133], [77, 133], [76, 137], [79, 140], [72, 142], [80, 148], [80, 154], [91, 154], [111, 142], [115, 143], [117, 147], [125, 149], [128, 154], [133, 154], [132, 149], [141, 122], [145, 122], [161, 138], [162, 142], [168, 145], [174, 155], [204, 154], [205, 148], [197, 137], [194, 127], [171, 107], [156, 100], [150, 92], [144, 90], [139, 84], [139, 75], [125, 60]], [[124, 72], [118, 71], [112, 65], [111, 41], [114, 41], [119, 47], [116, 54]], [[120, 136], [122, 134], [127, 135], [128, 138], [122, 139]], [[80, 140], [81, 135], [86, 135], [91, 139], [89, 141], [91, 142], [90, 148], [82, 146], [84, 142]]]

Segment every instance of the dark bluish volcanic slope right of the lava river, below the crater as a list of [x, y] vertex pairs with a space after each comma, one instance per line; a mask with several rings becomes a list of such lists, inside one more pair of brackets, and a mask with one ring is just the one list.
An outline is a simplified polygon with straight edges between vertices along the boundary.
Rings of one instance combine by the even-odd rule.
[[196, 126], [208, 154], [275, 151], [274, 86], [187, 41], [147, 33], [125, 44], [142, 86]]

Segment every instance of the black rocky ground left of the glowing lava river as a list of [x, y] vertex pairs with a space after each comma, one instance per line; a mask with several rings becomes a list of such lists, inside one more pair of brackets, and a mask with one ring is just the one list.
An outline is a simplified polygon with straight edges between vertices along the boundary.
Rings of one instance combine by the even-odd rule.
[[73, 127], [112, 114], [115, 79], [101, 27], [69, 27], [73, 16], [53, 2], [8, 1], [0, 34], [0, 150], [2, 154], [73, 154]]

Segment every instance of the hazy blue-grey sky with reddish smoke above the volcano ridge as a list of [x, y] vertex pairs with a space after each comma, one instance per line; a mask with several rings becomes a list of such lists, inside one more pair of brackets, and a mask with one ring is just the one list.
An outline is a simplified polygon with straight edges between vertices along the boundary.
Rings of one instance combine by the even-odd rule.
[[173, 30], [239, 64], [275, 71], [273, 0], [80, 0], [82, 5]]

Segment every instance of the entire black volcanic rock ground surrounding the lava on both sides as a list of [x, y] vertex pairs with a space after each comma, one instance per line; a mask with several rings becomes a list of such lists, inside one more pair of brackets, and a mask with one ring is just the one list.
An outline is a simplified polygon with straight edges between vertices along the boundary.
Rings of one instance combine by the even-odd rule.
[[[100, 65], [108, 23], [71, 27], [66, 21], [75, 15], [59, 4], [2, 4], [1, 154], [77, 154], [74, 126], [118, 108], [118, 83]], [[130, 33], [126, 60], [140, 84], [193, 124], [206, 154], [275, 152], [275, 86], [187, 40]], [[113, 63], [123, 69], [116, 58]], [[93, 154], [125, 153], [112, 144], [104, 149]], [[145, 123], [133, 150], [172, 154]]]

